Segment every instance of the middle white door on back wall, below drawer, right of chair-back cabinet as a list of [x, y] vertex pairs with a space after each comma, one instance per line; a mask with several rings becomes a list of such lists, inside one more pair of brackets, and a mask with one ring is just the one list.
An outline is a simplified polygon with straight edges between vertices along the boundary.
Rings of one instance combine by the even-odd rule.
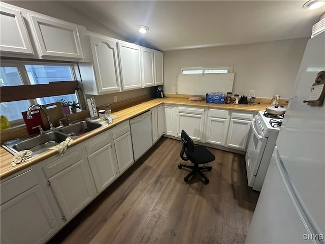
[[229, 119], [209, 118], [207, 125], [207, 142], [224, 146], [228, 132], [228, 124]]

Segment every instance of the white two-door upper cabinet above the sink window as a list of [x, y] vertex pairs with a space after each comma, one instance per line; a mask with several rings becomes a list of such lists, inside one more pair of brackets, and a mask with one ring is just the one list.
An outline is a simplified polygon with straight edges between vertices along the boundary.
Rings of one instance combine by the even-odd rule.
[[2, 56], [83, 60], [79, 31], [84, 26], [0, 4]]

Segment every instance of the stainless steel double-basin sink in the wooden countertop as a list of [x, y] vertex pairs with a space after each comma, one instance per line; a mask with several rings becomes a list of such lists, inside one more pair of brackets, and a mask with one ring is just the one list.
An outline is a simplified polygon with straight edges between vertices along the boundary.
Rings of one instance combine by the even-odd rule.
[[42, 134], [22, 139], [11, 145], [3, 145], [3, 147], [13, 155], [16, 155], [21, 150], [31, 150], [32, 158], [35, 158], [44, 154], [50, 147], [65, 141], [67, 137], [76, 139], [105, 126], [107, 126], [107, 124], [90, 120], [81, 120], [69, 126], [57, 127]]

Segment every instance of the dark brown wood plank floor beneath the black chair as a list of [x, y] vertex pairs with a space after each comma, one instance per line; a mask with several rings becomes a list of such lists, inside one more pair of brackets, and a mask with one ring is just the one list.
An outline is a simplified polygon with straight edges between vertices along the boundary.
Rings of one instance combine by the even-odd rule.
[[209, 148], [210, 183], [186, 183], [181, 146], [161, 138], [49, 243], [244, 243], [259, 195], [244, 156]]

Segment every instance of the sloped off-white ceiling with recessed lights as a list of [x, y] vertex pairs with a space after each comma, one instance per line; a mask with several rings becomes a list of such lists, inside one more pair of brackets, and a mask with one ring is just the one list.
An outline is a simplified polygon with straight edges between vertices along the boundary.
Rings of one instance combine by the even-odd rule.
[[[304, 1], [63, 1], [128, 41], [162, 51], [310, 37]], [[140, 34], [139, 25], [149, 27]]]

